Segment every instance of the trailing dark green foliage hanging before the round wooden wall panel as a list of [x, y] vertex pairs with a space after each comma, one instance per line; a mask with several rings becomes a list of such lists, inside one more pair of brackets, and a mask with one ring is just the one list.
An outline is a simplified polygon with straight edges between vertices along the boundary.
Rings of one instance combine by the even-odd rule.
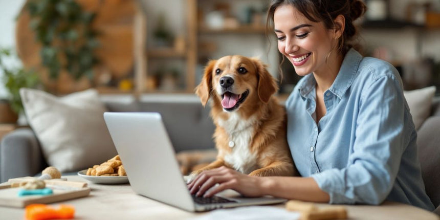
[[93, 83], [94, 67], [99, 63], [95, 49], [100, 45], [93, 28], [96, 13], [83, 10], [76, 1], [64, 0], [28, 0], [25, 9], [49, 79], [57, 80], [65, 72], [74, 80], [85, 77]]

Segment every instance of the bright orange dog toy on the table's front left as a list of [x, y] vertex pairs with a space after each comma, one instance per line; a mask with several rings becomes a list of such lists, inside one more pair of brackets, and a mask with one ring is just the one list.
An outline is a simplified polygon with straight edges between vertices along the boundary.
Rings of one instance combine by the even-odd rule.
[[60, 205], [58, 209], [45, 204], [26, 206], [25, 216], [28, 220], [67, 219], [73, 218], [75, 208], [70, 205]]

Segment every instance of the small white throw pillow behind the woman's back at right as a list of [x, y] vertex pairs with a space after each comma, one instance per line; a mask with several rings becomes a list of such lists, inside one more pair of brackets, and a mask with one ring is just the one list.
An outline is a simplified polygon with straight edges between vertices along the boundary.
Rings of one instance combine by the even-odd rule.
[[408, 102], [409, 112], [412, 115], [415, 129], [419, 129], [431, 112], [435, 86], [429, 86], [419, 90], [404, 91], [403, 94], [406, 102]]

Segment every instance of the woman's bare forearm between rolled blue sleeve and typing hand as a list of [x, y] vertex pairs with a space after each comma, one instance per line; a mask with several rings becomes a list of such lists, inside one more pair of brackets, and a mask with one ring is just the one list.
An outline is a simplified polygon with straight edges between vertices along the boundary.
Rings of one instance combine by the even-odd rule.
[[262, 177], [261, 190], [266, 195], [290, 200], [328, 202], [330, 196], [322, 191], [313, 178]]

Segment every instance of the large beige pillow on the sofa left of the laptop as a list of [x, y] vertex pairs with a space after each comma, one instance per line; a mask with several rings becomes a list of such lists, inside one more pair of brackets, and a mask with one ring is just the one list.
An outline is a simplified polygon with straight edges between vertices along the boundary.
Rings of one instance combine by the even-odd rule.
[[26, 117], [48, 164], [61, 172], [100, 164], [117, 152], [105, 126], [105, 106], [96, 90], [64, 97], [20, 89]]

